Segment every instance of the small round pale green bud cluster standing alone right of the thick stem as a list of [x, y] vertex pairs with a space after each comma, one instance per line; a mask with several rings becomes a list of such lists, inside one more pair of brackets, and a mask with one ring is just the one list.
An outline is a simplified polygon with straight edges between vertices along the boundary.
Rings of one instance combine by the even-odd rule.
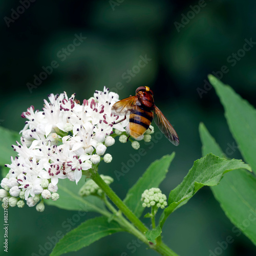
[[143, 207], [156, 205], [158, 208], [164, 209], [167, 205], [166, 196], [162, 194], [162, 191], [159, 188], [156, 187], [146, 189], [141, 195], [141, 201], [143, 201]]

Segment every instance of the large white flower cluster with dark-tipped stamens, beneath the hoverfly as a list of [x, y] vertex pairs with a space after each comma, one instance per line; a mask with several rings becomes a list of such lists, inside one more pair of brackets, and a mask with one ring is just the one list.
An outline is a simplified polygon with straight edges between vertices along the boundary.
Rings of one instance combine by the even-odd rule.
[[[104, 88], [82, 104], [75, 94], [69, 98], [64, 92], [49, 95], [42, 111], [30, 106], [22, 114], [28, 120], [20, 132], [21, 142], [12, 146], [18, 157], [6, 164], [10, 171], [1, 182], [0, 200], [7, 197], [10, 206], [18, 207], [24, 206], [24, 199], [29, 206], [41, 198], [57, 200], [58, 179], [77, 183], [82, 170], [101, 160], [110, 163], [112, 156], [105, 151], [115, 143], [113, 129], [125, 132], [129, 123], [127, 118], [113, 125], [119, 116], [111, 113], [111, 106], [118, 98]], [[37, 210], [42, 211], [40, 204]]]

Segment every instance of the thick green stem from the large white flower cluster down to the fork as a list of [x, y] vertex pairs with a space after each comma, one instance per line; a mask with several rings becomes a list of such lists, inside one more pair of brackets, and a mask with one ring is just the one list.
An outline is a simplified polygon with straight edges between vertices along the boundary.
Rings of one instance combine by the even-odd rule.
[[91, 179], [106, 193], [111, 201], [123, 212], [123, 214], [129, 219], [142, 233], [145, 233], [148, 229], [137, 218], [137, 216], [123, 203], [123, 201], [114, 193], [114, 191], [107, 185], [97, 170], [91, 169]]

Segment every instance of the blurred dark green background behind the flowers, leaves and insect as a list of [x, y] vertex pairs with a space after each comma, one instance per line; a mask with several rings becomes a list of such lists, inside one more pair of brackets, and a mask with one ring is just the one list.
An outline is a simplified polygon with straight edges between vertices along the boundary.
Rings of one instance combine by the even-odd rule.
[[[249, 51], [240, 50], [245, 39], [256, 41], [255, 1], [38, 0], [24, 1], [27, 7], [30, 5], [27, 9], [20, 7], [21, 2], [0, 4], [2, 126], [22, 130], [25, 120], [20, 114], [30, 105], [41, 109], [50, 93], [75, 92], [82, 101], [104, 86], [120, 98], [134, 95], [139, 86], [151, 87], [157, 106], [174, 124], [180, 145], [175, 147], [165, 138], [152, 149], [141, 143], [146, 155], [119, 181], [114, 170], [120, 170], [121, 163], [127, 163], [136, 151], [119, 141], [108, 149], [113, 161], [102, 163], [100, 173], [115, 178], [112, 188], [121, 198], [153, 160], [173, 151], [175, 160], [160, 188], [167, 195], [177, 186], [193, 161], [201, 157], [201, 121], [224, 152], [232, 145], [234, 139], [214, 89], [199, 94], [198, 88], [205, 90], [207, 74], [217, 72], [224, 83], [256, 105], [256, 47], [252, 44]], [[74, 47], [75, 34], [87, 38]], [[140, 56], [151, 60], [138, 70], [134, 67]], [[34, 76], [40, 76], [42, 67], [52, 61], [58, 67], [30, 91], [27, 84], [32, 84]], [[218, 72], [223, 66], [228, 70], [225, 74]], [[131, 75], [128, 70], [133, 71]], [[238, 150], [229, 157], [242, 158]], [[29, 207], [9, 209], [9, 254], [40, 255], [39, 246], [44, 247], [47, 237], [55, 236], [58, 230], [66, 233], [68, 228], [62, 224], [75, 214], [51, 206], [42, 213]], [[94, 216], [86, 214], [73, 227]], [[3, 217], [0, 219], [2, 223]], [[149, 225], [147, 219], [145, 222]], [[243, 234], [237, 236], [232, 228], [210, 189], [202, 188], [167, 220], [163, 240], [180, 255], [203, 256], [230, 235], [234, 242], [218, 255], [256, 255], [253, 244]], [[134, 239], [118, 233], [67, 255], [157, 255], [144, 244], [131, 245]], [[50, 251], [41, 251], [41, 255]]]

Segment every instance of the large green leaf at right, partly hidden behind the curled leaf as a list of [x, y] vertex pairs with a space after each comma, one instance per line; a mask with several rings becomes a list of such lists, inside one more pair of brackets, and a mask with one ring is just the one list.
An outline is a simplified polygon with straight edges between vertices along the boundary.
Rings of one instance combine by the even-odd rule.
[[[213, 152], [223, 155], [215, 139], [203, 124], [199, 127], [203, 144], [202, 154]], [[256, 179], [245, 170], [238, 169], [223, 177], [220, 184], [211, 187], [215, 198], [230, 221], [256, 245]]]

